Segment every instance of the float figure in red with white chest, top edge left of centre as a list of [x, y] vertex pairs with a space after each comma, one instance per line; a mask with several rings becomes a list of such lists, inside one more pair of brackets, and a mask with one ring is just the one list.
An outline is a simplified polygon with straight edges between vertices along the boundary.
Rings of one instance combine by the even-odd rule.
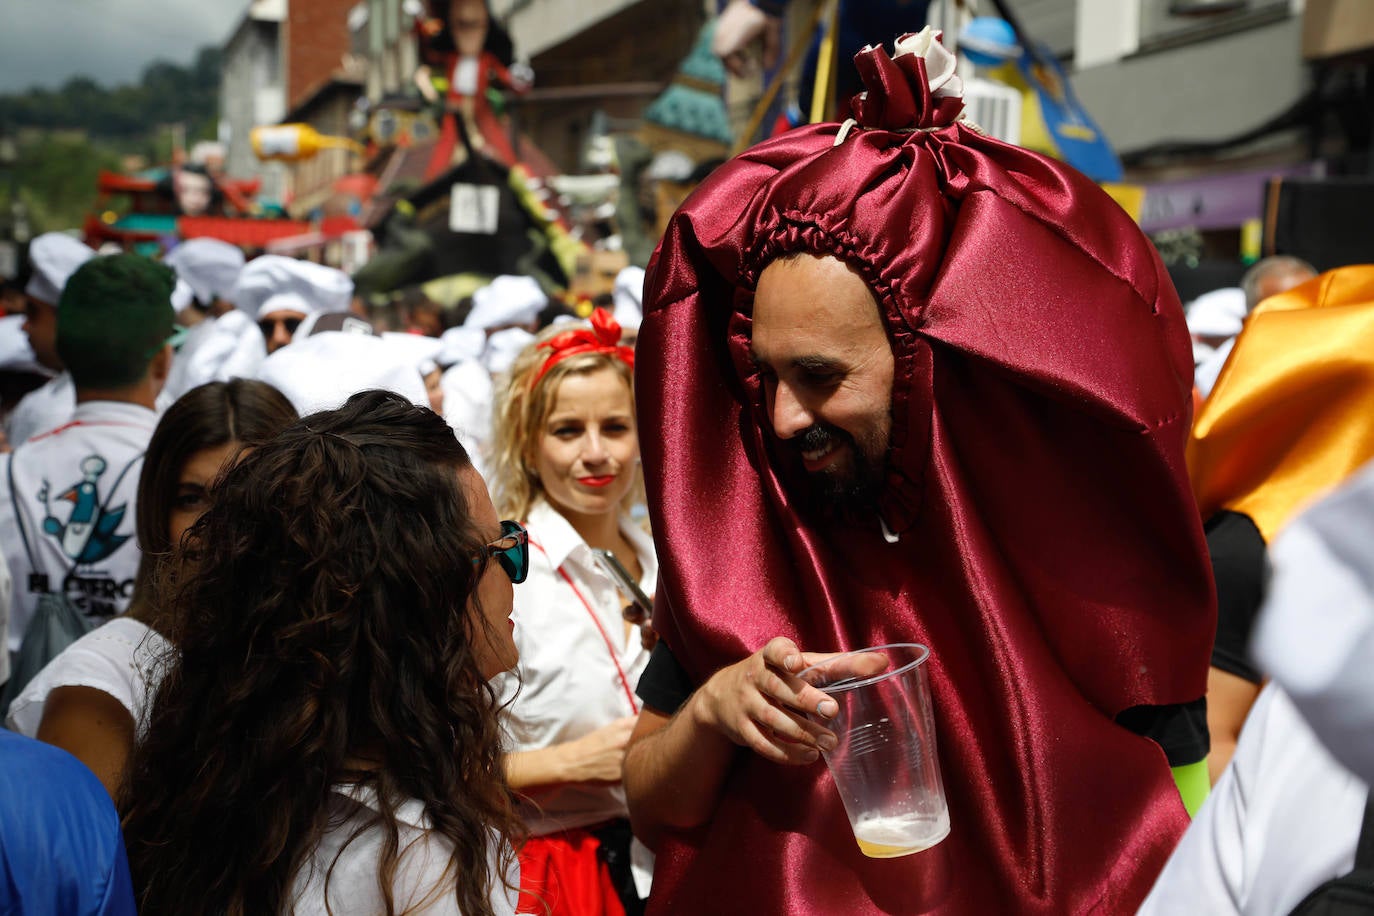
[[486, 95], [497, 87], [514, 92], [529, 87], [528, 78], [510, 70], [510, 37], [492, 21], [486, 0], [433, 0], [430, 11], [431, 18], [416, 22], [423, 63], [415, 84], [430, 103], [442, 98], [444, 118], [425, 179], [452, 165], [460, 128], [473, 146], [514, 165], [515, 150]]

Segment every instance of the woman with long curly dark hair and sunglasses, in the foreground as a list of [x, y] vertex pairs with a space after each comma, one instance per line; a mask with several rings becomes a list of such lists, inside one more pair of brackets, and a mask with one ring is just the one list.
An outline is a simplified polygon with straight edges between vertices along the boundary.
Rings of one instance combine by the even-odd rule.
[[449, 427], [383, 391], [311, 415], [188, 549], [124, 792], [140, 912], [513, 912], [486, 681], [528, 548]]

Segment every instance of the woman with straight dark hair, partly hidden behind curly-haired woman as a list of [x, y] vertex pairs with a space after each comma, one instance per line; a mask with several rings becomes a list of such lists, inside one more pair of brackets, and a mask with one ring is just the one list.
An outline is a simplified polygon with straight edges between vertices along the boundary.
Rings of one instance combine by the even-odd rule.
[[273, 437], [295, 409], [272, 386], [235, 379], [183, 394], [162, 415], [139, 477], [135, 530], [143, 556], [129, 610], [73, 643], [10, 705], [5, 724], [69, 751], [113, 797], [170, 645], [158, 582], [181, 534], [209, 504], [220, 471]]

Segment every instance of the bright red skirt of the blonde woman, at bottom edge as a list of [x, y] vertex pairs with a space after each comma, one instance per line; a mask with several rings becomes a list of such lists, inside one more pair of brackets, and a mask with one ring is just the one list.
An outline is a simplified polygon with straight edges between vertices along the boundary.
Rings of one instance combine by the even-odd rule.
[[610, 871], [598, 856], [600, 840], [587, 829], [530, 836], [519, 850], [517, 913], [540, 916], [624, 916]]

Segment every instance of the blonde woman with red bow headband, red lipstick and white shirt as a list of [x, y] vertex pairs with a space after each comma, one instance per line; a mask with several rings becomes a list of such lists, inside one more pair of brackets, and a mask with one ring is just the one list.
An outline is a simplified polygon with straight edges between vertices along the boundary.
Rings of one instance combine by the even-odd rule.
[[503, 685], [506, 773], [530, 835], [522, 913], [638, 913], [647, 893], [651, 860], [631, 851], [620, 784], [647, 640], [594, 553], [653, 591], [653, 542], [627, 514], [642, 486], [632, 376], [633, 350], [598, 309], [591, 324], [545, 330], [497, 389], [496, 504], [530, 547], [514, 611], [519, 689]]

